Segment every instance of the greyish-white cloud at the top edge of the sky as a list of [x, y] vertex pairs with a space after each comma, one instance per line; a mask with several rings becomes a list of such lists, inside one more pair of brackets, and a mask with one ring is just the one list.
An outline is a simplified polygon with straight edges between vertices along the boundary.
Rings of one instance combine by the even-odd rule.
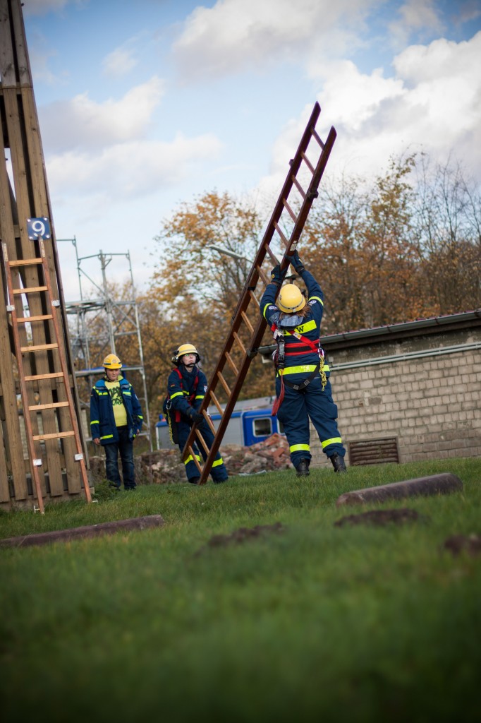
[[212, 76], [312, 53], [329, 56], [358, 46], [374, 0], [219, 0], [197, 7], [173, 46], [186, 77]]

